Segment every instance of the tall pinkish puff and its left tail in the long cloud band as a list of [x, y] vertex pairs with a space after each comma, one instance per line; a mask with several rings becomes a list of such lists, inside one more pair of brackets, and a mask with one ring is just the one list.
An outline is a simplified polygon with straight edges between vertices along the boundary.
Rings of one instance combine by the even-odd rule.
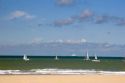
[[93, 11], [91, 11], [90, 9], [85, 9], [80, 13], [80, 15], [71, 16], [65, 19], [58, 19], [58, 20], [55, 20], [53, 24], [54, 26], [62, 27], [62, 26], [74, 24], [78, 21], [86, 21], [86, 20], [92, 21], [93, 16], [94, 16]]

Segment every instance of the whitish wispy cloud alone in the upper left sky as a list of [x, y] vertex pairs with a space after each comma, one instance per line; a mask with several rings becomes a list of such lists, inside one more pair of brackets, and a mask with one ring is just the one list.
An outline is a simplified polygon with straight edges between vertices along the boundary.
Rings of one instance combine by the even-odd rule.
[[34, 17], [35, 16], [30, 15], [29, 13], [27, 13], [25, 11], [16, 10], [16, 11], [13, 11], [12, 13], [10, 13], [9, 19], [10, 20], [18, 19], [18, 18], [33, 19]]

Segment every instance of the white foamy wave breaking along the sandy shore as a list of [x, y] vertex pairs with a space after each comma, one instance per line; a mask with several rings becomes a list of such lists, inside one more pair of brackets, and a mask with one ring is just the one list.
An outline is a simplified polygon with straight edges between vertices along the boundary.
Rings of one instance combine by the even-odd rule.
[[85, 75], [85, 74], [99, 74], [99, 75], [125, 75], [125, 71], [96, 71], [96, 70], [75, 70], [75, 69], [32, 69], [32, 70], [0, 70], [1, 75]]

